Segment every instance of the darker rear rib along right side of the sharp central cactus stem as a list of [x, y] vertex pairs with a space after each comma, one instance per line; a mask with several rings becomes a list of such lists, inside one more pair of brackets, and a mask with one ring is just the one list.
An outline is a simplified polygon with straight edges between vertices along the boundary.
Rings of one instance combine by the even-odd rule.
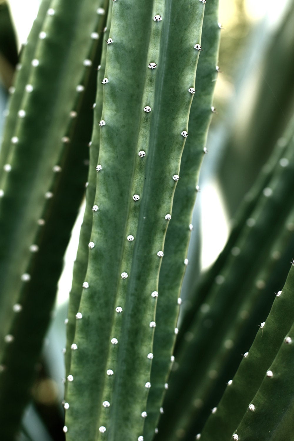
[[[203, 15], [204, 5], [196, 2], [193, 14]], [[191, 11], [190, 11], [191, 13]], [[203, 27], [199, 26], [199, 43], [203, 52], [197, 65], [196, 82], [190, 87], [196, 92], [189, 116], [189, 136], [182, 154], [179, 183], [175, 197], [164, 244], [165, 259], [160, 268], [159, 297], [156, 307], [156, 322], [154, 334], [154, 361], [151, 370], [151, 384], [147, 413], [144, 427], [144, 438], [151, 439], [154, 427], [160, 417], [160, 407], [164, 392], [167, 388], [167, 377], [171, 368], [171, 356], [175, 342], [175, 328], [181, 299], [179, 293], [188, 262], [186, 259], [191, 230], [191, 212], [193, 210], [197, 190], [199, 168], [204, 157], [204, 147], [208, 126], [212, 116], [212, 96], [217, 77], [216, 65], [220, 42], [220, 27], [218, 25], [218, 0], [205, 6]], [[189, 85], [187, 89], [190, 89]], [[179, 302], [179, 303], [178, 303]], [[160, 437], [160, 435], [159, 435]]]

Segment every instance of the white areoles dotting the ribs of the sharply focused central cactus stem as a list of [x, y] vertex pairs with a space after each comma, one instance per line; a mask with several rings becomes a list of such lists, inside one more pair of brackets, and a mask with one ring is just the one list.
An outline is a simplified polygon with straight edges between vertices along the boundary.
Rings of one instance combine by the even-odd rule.
[[[115, 0], [114, 0], [114, 1], [115, 1]], [[205, 3], [205, 1], [203, 1], [203, 0], [200, 0], [200, 1], [201, 1], [202, 3]], [[160, 22], [161, 19], [162, 19], [162, 18], [161, 18], [160, 15], [155, 15], [155, 16], [153, 17], [153, 20], [154, 20], [155, 22]], [[219, 24], [219, 26], [221, 27], [220, 24]], [[110, 45], [110, 44], [112, 44], [112, 43], [113, 43], [112, 38], [108, 38], [108, 40], [106, 41], [106, 44], [107, 44], [107, 45]], [[201, 45], [199, 45], [199, 44], [194, 45], [194, 49], [197, 49], [198, 51], [202, 50], [202, 49], [201, 49]], [[151, 62], [151, 63], [149, 63], [148, 67], [149, 67], [150, 69], [154, 69], [154, 68], [156, 68], [156, 63]], [[219, 67], [218, 67], [218, 66], [216, 66], [216, 71], [219, 71]], [[104, 78], [104, 79], [102, 80], [102, 84], [103, 84], [103, 85], [104, 85], [104, 84], [107, 84], [108, 82], [109, 82], [108, 78]], [[193, 87], [190, 87], [190, 88], [188, 89], [188, 92], [190, 92], [191, 94], [194, 94], [194, 93], [195, 93], [195, 89], [194, 89]], [[143, 110], [144, 110], [144, 112], [149, 113], [149, 112], [151, 111], [151, 108], [150, 108], [150, 106], [145, 106]], [[216, 112], [216, 109], [215, 109], [214, 107], [212, 107], [211, 110], [212, 110], [212, 112], [214, 112], [214, 113]], [[104, 121], [104, 120], [101, 120], [100, 123], [99, 123], [99, 126], [100, 126], [100, 127], [103, 127], [103, 126], [105, 126], [105, 124], [106, 124], [105, 121]], [[186, 138], [186, 137], [188, 136], [188, 133], [187, 133], [186, 131], [182, 131], [181, 135], [182, 135], [184, 138]], [[204, 148], [204, 153], [207, 153], [206, 148]], [[144, 157], [145, 154], [146, 154], [146, 153], [145, 153], [145, 151], [143, 151], [143, 150], [141, 150], [140, 152], [138, 152], [139, 157]], [[97, 167], [96, 167], [96, 170], [97, 170], [97, 172], [100, 172], [100, 171], [102, 170], [102, 165], [101, 165], [101, 164], [98, 164]], [[175, 181], [178, 181], [178, 180], [179, 180], [179, 175], [175, 174], [175, 175], [173, 176], [173, 179], [174, 179]], [[199, 191], [199, 187], [198, 187], [198, 186], [196, 187], [196, 189], [197, 189], [197, 191]], [[136, 201], [138, 201], [139, 199], [140, 199], [140, 196], [139, 196], [138, 194], [134, 194], [134, 196], [133, 196], [133, 200], [136, 202]], [[99, 208], [98, 208], [97, 205], [94, 205], [94, 206], [92, 207], [92, 209], [93, 209], [93, 211], [95, 212], [95, 211], [97, 211]], [[166, 214], [166, 215], [165, 215], [165, 220], [170, 220], [170, 219], [171, 219], [171, 215], [170, 215], [170, 214]], [[190, 224], [190, 225], [189, 225], [189, 228], [190, 228], [190, 231], [192, 231], [192, 230], [193, 230], [193, 225]], [[133, 241], [133, 240], [134, 240], [134, 236], [133, 236], [133, 235], [128, 235], [128, 236], [127, 236], [127, 240], [128, 240], [128, 241]], [[90, 249], [93, 249], [93, 247], [95, 247], [95, 244], [91, 241], [91, 242], [89, 242], [88, 246], [89, 246]], [[157, 252], [157, 256], [160, 257], [160, 258], [163, 257], [163, 256], [164, 256], [163, 251], [158, 251], [158, 252]], [[188, 259], [185, 259], [185, 260], [184, 260], [184, 264], [185, 264], [185, 265], [188, 265], [188, 263], [189, 263], [189, 262], [188, 262]], [[127, 274], [126, 272], [123, 272], [123, 273], [121, 274], [121, 278], [122, 278], [122, 279], [126, 279], [127, 277], [128, 277], [128, 274]], [[82, 286], [83, 286], [83, 288], [87, 289], [87, 288], [89, 288], [89, 283], [85, 281], [85, 282], [83, 283]], [[157, 296], [158, 296], [158, 292], [154, 291], [154, 292], [152, 292], [151, 295], [152, 295], [152, 297], [157, 297]], [[177, 300], [177, 303], [178, 303], [178, 305], [181, 305], [182, 300], [179, 298], [179, 299]], [[121, 313], [121, 312], [123, 311], [123, 309], [121, 308], [121, 306], [117, 306], [117, 307], [115, 308], [115, 311], [116, 311], [117, 313]], [[76, 318], [77, 318], [77, 319], [81, 319], [81, 318], [82, 318], [82, 313], [78, 312], [78, 313], [76, 314]], [[151, 321], [150, 324], [149, 324], [149, 326], [150, 326], [151, 328], [153, 328], [153, 327], [156, 326], [156, 323], [155, 323], [154, 321]], [[178, 329], [178, 328], [175, 328], [175, 334], [177, 334], [178, 332], [179, 332], [179, 329]], [[112, 339], [111, 339], [111, 343], [112, 343], [112, 344], [117, 344], [117, 343], [118, 343], [118, 340], [117, 340], [116, 338], [112, 338]], [[71, 345], [71, 348], [72, 348], [73, 350], [76, 350], [78, 347], [77, 347], [76, 344], [72, 344], [72, 345]], [[153, 359], [153, 354], [150, 352], [150, 353], [147, 355], [147, 358], [148, 358], [148, 359]], [[175, 357], [174, 357], [173, 355], [171, 355], [171, 362], [173, 362], [174, 360], [175, 360]], [[112, 369], [108, 369], [108, 370], [107, 370], [107, 375], [113, 375], [113, 374], [114, 374], [114, 372], [113, 372]], [[72, 375], [69, 375], [69, 376], [67, 377], [67, 380], [68, 380], [68, 381], [73, 381], [73, 379], [74, 379], [74, 378], [73, 378]], [[150, 387], [151, 387], [151, 384], [150, 384], [149, 381], [145, 383], [145, 387], [146, 387], [146, 388], [150, 388]], [[164, 388], [165, 388], [165, 389], [168, 389], [168, 384], [167, 384], [167, 383], [164, 384]], [[105, 401], [103, 401], [102, 405], [103, 405], [104, 407], [109, 407], [109, 406], [110, 406], [110, 403], [109, 403], [109, 401], [105, 400]], [[68, 404], [68, 403], [65, 403], [65, 404], [64, 404], [64, 407], [65, 407], [66, 409], [68, 409], [68, 408], [69, 408], [69, 404]], [[163, 408], [160, 407], [160, 413], [163, 413], [163, 412], [164, 412]], [[143, 417], [143, 418], [147, 417], [147, 412], [143, 411], [143, 412], [141, 413], [141, 417]], [[106, 427], [105, 427], [105, 426], [100, 426], [99, 430], [100, 430], [101, 433], [104, 433], [104, 432], [106, 431]], [[158, 430], [156, 429], [156, 430], [155, 430], [155, 433], [157, 433], [157, 432], [158, 432]], [[138, 437], [138, 441], [142, 441], [142, 440], [143, 440], [143, 437], [142, 437], [142, 436]]]

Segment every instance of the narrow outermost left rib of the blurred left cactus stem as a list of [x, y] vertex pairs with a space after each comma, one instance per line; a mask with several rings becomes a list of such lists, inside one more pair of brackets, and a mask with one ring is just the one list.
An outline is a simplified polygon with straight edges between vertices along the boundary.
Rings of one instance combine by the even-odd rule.
[[38, 35], [44, 26], [44, 20], [52, 1], [53, 0], [43, 0], [41, 2], [37, 17], [33, 22], [33, 27], [30, 31], [27, 44], [22, 51], [20, 64], [17, 67], [17, 75], [14, 85], [10, 89], [11, 97], [8, 108], [5, 111], [6, 123], [0, 149], [0, 170], [2, 170], [4, 165], [7, 163], [7, 156], [9, 151], [13, 148], [11, 138], [15, 134], [15, 126], [18, 120], [17, 112], [21, 108], [20, 105], [22, 103], [24, 94], [26, 93], [25, 87], [26, 84], [28, 84], [28, 78], [31, 70], [33, 69], [31, 61], [33, 60], [38, 43]]

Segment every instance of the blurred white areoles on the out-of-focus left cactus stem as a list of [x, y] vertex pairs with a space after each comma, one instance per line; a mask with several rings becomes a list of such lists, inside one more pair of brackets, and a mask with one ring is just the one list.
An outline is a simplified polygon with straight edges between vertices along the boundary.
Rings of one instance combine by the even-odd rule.
[[[103, 8], [98, 8], [98, 9], [97, 9], [97, 14], [98, 14], [98, 15], [104, 15], [104, 14], [105, 14], [104, 9], [103, 9]], [[55, 15], [55, 10], [54, 10], [53, 8], [49, 8], [48, 11], [47, 11], [47, 15], [48, 15], [49, 17], [52, 17], [53, 15]], [[40, 38], [40, 40], [45, 40], [46, 37], [47, 37], [46, 32], [45, 32], [45, 31], [41, 31], [40, 34], [39, 34], [39, 38]], [[92, 32], [91, 35], [90, 35], [90, 37], [91, 37], [92, 40], [97, 40], [97, 39], [99, 38], [99, 34], [98, 34], [97, 32]], [[37, 67], [37, 66], [39, 65], [39, 63], [40, 63], [39, 60], [37, 60], [37, 59], [33, 59], [32, 62], [31, 62], [31, 65], [32, 65], [33, 67]], [[83, 65], [84, 65], [85, 67], [91, 67], [91, 66], [92, 66], [92, 61], [89, 60], [89, 59], [85, 59], [85, 60], [83, 61]], [[18, 65], [17, 65], [17, 70], [19, 71], [19, 70], [21, 69], [21, 67], [22, 67], [21, 64], [18, 64]], [[26, 84], [26, 86], [25, 86], [25, 90], [26, 90], [27, 93], [31, 93], [31, 92], [33, 92], [33, 85], [32, 85], [32, 84]], [[84, 87], [82, 84], [78, 84], [78, 86], [76, 86], [76, 91], [77, 91], [78, 93], [81, 93], [81, 92], [83, 92], [84, 90], [85, 90], [85, 87]], [[14, 88], [14, 87], [11, 87], [10, 90], [9, 90], [9, 92], [10, 92], [11, 94], [14, 93], [14, 92], [15, 92], [15, 88]], [[4, 110], [4, 116], [7, 117], [8, 115], [9, 115], [9, 110], [8, 110], [8, 109]], [[74, 110], [71, 111], [70, 114], [69, 114], [70, 118], [75, 118], [77, 115], [78, 115], [78, 113], [77, 113], [76, 111], [74, 111]], [[25, 118], [25, 116], [26, 116], [26, 111], [25, 111], [24, 109], [20, 109], [20, 110], [18, 111], [18, 116], [19, 116], [19, 118], [21, 118], [21, 119]], [[17, 145], [18, 142], [19, 142], [19, 138], [18, 138], [17, 136], [13, 136], [13, 137], [11, 138], [11, 143], [12, 143], [12, 144]], [[63, 137], [61, 138], [61, 142], [62, 142], [63, 144], [67, 144], [67, 143], [70, 142], [70, 138], [68, 138], [67, 136], [63, 136]], [[11, 167], [10, 164], [5, 164], [5, 165], [4, 165], [4, 171], [6, 171], [6, 172], [10, 172], [11, 169], [12, 169], [12, 167]], [[61, 172], [62, 169], [61, 169], [60, 165], [55, 165], [55, 166], [52, 168], [52, 171], [53, 171], [54, 173], [58, 173], [58, 172]], [[54, 195], [53, 195], [53, 193], [52, 193], [51, 191], [47, 191], [47, 192], [45, 193], [45, 195], [44, 195], [45, 199], [51, 199], [53, 196], [54, 196]], [[3, 198], [3, 197], [4, 197], [4, 190], [3, 190], [3, 189], [0, 189], [0, 198]], [[38, 220], [37, 220], [37, 225], [38, 225], [39, 227], [44, 226], [44, 225], [45, 225], [45, 220], [44, 220], [44, 219], [38, 219]], [[37, 235], [37, 233], [36, 233], [36, 235]], [[38, 250], [39, 250], [39, 247], [38, 247], [38, 245], [36, 245], [36, 244], [32, 244], [32, 245], [30, 245], [30, 247], [29, 247], [29, 251], [30, 251], [31, 253], [36, 253]], [[30, 276], [29, 273], [23, 273], [23, 274], [21, 275], [21, 280], [22, 280], [22, 282], [24, 282], [24, 283], [29, 282], [30, 279], [31, 279], [31, 276]], [[22, 310], [22, 305], [21, 305], [20, 303], [15, 303], [15, 305], [13, 305], [13, 311], [14, 311], [15, 313], [19, 313], [19, 312], [21, 312], [21, 310]], [[5, 343], [12, 343], [12, 342], [14, 341], [14, 336], [11, 335], [11, 334], [7, 334], [7, 335], [4, 337], [4, 341], [5, 341]], [[2, 372], [4, 369], [5, 369], [5, 366], [0, 365], [0, 372]]]

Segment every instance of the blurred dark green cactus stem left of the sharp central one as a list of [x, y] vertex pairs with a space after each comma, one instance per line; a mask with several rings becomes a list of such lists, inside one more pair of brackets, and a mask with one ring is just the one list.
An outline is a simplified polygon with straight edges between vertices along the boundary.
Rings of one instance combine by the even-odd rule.
[[[97, 56], [95, 49], [97, 42], [91, 40], [90, 35], [96, 26], [96, 7], [92, 1], [88, 1], [76, 4], [69, 13], [63, 2], [56, 1], [53, 12], [48, 15], [49, 22], [45, 24], [45, 30], [42, 31], [46, 32], [46, 36], [41, 38], [42, 43], [45, 44], [37, 48], [37, 51], [40, 51], [40, 59], [38, 58], [40, 72], [36, 69], [31, 78], [34, 81], [30, 81], [33, 85], [33, 90], [30, 92], [33, 102], [30, 106], [23, 107], [26, 117], [23, 118], [23, 124], [19, 128], [18, 144], [22, 143], [22, 149], [26, 151], [29, 158], [22, 166], [19, 166], [25, 152], [15, 148], [12, 164], [16, 164], [16, 167], [14, 169], [12, 166], [7, 177], [7, 191], [1, 199], [0, 207], [1, 227], [3, 225], [6, 232], [8, 228], [11, 229], [9, 231], [12, 242], [11, 252], [15, 247], [15, 238], [19, 237], [22, 232], [21, 228], [30, 230], [30, 234], [23, 241], [24, 245], [21, 243], [22, 254], [20, 257], [17, 255], [18, 259], [22, 259], [21, 265], [18, 262], [15, 267], [9, 269], [14, 271], [12, 275], [11, 272], [7, 275], [1, 273], [1, 277], [6, 276], [8, 282], [11, 281], [11, 277], [16, 277], [16, 281], [21, 282], [19, 298], [16, 299], [15, 294], [10, 295], [8, 299], [10, 305], [7, 304], [6, 309], [1, 311], [2, 314], [6, 313], [7, 325], [6, 334], [4, 334], [5, 351], [1, 360], [3, 372], [0, 376], [2, 409], [0, 434], [7, 441], [14, 439], [23, 407], [30, 395], [35, 365], [55, 300], [56, 285], [63, 265], [63, 254], [84, 194], [87, 173], [87, 164], [84, 160], [88, 156], [88, 142], [92, 131], [96, 72], [91, 66]], [[71, 45], [60, 46], [59, 40], [52, 37], [60, 33], [69, 40], [73, 38], [72, 47]], [[80, 48], [78, 56], [75, 47]], [[52, 63], [52, 53], [54, 63]], [[66, 86], [62, 81], [56, 82], [57, 74], [66, 78]], [[42, 81], [45, 81], [43, 88], [40, 87]], [[88, 83], [89, 90], [87, 90]], [[56, 94], [52, 101], [52, 88], [55, 87]], [[70, 111], [74, 112], [74, 117], [70, 115]], [[44, 117], [47, 112], [52, 114], [52, 125], [57, 123], [55, 130], [52, 133], [49, 132], [50, 135], [47, 131], [44, 133], [42, 117], [40, 127], [36, 127], [35, 123], [32, 124], [31, 117], [29, 118], [37, 113], [39, 117], [40, 114]], [[68, 132], [65, 132], [66, 129]], [[62, 137], [64, 134], [67, 136]], [[72, 141], [70, 141], [70, 136], [74, 138]], [[50, 149], [52, 145], [56, 146], [55, 150]], [[44, 147], [44, 150], [40, 146]], [[41, 157], [36, 158], [36, 150]], [[44, 182], [39, 186], [35, 185], [34, 180], [37, 179], [35, 176], [37, 165], [44, 172]], [[32, 179], [24, 185], [22, 179], [25, 180], [28, 172]], [[23, 188], [19, 189], [20, 186]], [[17, 188], [15, 199], [12, 199], [11, 188]], [[47, 190], [46, 193], [45, 190]], [[26, 211], [22, 206], [24, 200], [29, 201]], [[10, 213], [8, 210], [12, 203], [15, 213]], [[24, 217], [24, 225], [19, 228], [20, 231], [13, 230], [14, 224], [7, 226], [11, 214], [22, 214]], [[34, 219], [37, 221], [38, 217], [41, 217], [41, 221], [34, 222]], [[1, 238], [6, 247], [1, 250], [6, 253], [8, 239], [9, 237]], [[19, 273], [22, 267], [26, 270], [23, 274]], [[11, 325], [12, 315], [14, 318]], [[3, 329], [1, 331], [3, 332]], [[3, 344], [2, 341], [1, 344]]]

